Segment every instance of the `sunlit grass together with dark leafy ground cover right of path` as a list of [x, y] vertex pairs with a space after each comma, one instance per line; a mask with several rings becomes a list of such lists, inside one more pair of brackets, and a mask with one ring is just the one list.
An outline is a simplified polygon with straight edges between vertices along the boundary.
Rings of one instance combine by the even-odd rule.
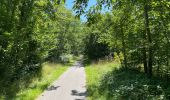
[[86, 66], [88, 100], [169, 100], [170, 82], [113, 62]]

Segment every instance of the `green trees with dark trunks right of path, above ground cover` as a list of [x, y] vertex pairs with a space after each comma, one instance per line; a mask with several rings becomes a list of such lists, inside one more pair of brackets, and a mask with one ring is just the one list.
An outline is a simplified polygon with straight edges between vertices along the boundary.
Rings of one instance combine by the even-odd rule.
[[[87, 4], [88, 0], [76, 0], [74, 8], [78, 15]], [[101, 13], [103, 6], [111, 7], [109, 13]], [[107, 44], [110, 53], [122, 53], [122, 66], [143, 67], [148, 76], [169, 76], [168, 0], [98, 0], [86, 15], [90, 31], [97, 32], [93, 34], [98, 38], [96, 43]], [[97, 47], [94, 45], [93, 48]]]

